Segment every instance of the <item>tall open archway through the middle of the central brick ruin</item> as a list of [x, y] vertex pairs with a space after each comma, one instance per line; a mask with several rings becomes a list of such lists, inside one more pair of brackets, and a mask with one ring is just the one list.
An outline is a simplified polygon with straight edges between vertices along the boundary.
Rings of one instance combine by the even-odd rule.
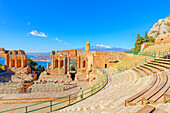
[[71, 74], [72, 80], [74, 81], [75, 75], [77, 73], [77, 59], [75, 58], [70, 59], [69, 72]]

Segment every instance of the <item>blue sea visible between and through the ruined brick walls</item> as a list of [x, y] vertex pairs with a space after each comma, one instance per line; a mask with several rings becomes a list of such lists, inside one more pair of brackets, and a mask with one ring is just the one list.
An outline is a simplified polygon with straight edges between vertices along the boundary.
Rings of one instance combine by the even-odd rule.
[[[33, 56], [33, 55], [27, 55], [28, 58], [34, 58], [36, 56]], [[44, 68], [47, 68], [47, 63], [50, 64], [50, 62], [47, 62], [47, 61], [35, 61], [38, 63], [38, 65], [41, 65], [41, 66], [44, 66]], [[0, 64], [1, 65], [4, 65], [5, 64], [5, 59], [0, 57]]]

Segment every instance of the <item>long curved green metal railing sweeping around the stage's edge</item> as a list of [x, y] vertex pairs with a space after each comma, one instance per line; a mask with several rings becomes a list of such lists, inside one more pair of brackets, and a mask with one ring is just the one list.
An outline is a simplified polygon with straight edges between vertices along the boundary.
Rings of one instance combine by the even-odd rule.
[[44, 110], [44, 112], [52, 112], [73, 105], [79, 101], [88, 98], [89, 96], [94, 95], [95, 93], [99, 92], [102, 88], [105, 87], [105, 85], [108, 83], [108, 75], [107, 73], [104, 72], [104, 70], [99, 69], [99, 71], [101, 71], [104, 74], [104, 79], [100, 83], [94, 85], [93, 87], [57, 99], [48, 100], [45, 102], [40, 102], [24, 107], [18, 107], [10, 110], [0, 111], [0, 113], [5, 112], [31, 113], [35, 111], [43, 112], [42, 110]]

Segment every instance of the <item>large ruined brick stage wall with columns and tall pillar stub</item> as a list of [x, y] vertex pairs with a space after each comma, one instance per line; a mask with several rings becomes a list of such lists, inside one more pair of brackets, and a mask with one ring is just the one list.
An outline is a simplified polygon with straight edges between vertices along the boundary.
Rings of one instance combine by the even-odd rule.
[[[94, 72], [95, 68], [109, 68], [114, 64], [114, 62], [109, 62], [110, 60], [118, 60], [125, 54], [122, 52], [90, 51], [90, 42], [87, 41], [85, 50], [52, 51], [50, 55], [51, 64], [46, 71], [49, 73], [70, 74], [70, 59], [74, 58], [77, 60], [77, 76], [89, 75], [89, 72]], [[56, 61], [58, 62], [57, 64]], [[56, 68], [57, 66], [58, 68]]]

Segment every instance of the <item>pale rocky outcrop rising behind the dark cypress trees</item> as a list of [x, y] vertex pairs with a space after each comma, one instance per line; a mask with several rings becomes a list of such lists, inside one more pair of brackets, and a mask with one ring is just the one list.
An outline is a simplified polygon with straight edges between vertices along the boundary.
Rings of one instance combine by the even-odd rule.
[[164, 38], [170, 36], [170, 16], [160, 19], [150, 29], [148, 36], [153, 38]]

